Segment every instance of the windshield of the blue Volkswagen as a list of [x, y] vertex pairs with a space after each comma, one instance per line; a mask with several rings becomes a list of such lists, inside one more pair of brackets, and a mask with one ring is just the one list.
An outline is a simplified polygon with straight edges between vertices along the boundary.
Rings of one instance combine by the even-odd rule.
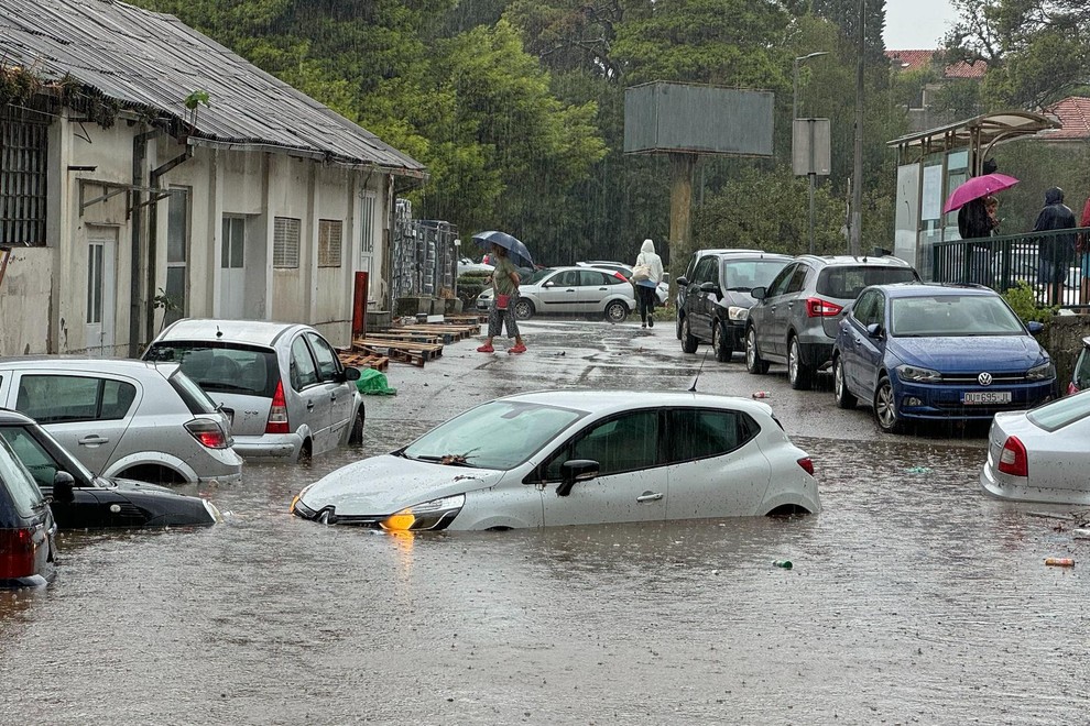
[[892, 300], [895, 338], [1023, 336], [1018, 317], [991, 295], [926, 295]]

